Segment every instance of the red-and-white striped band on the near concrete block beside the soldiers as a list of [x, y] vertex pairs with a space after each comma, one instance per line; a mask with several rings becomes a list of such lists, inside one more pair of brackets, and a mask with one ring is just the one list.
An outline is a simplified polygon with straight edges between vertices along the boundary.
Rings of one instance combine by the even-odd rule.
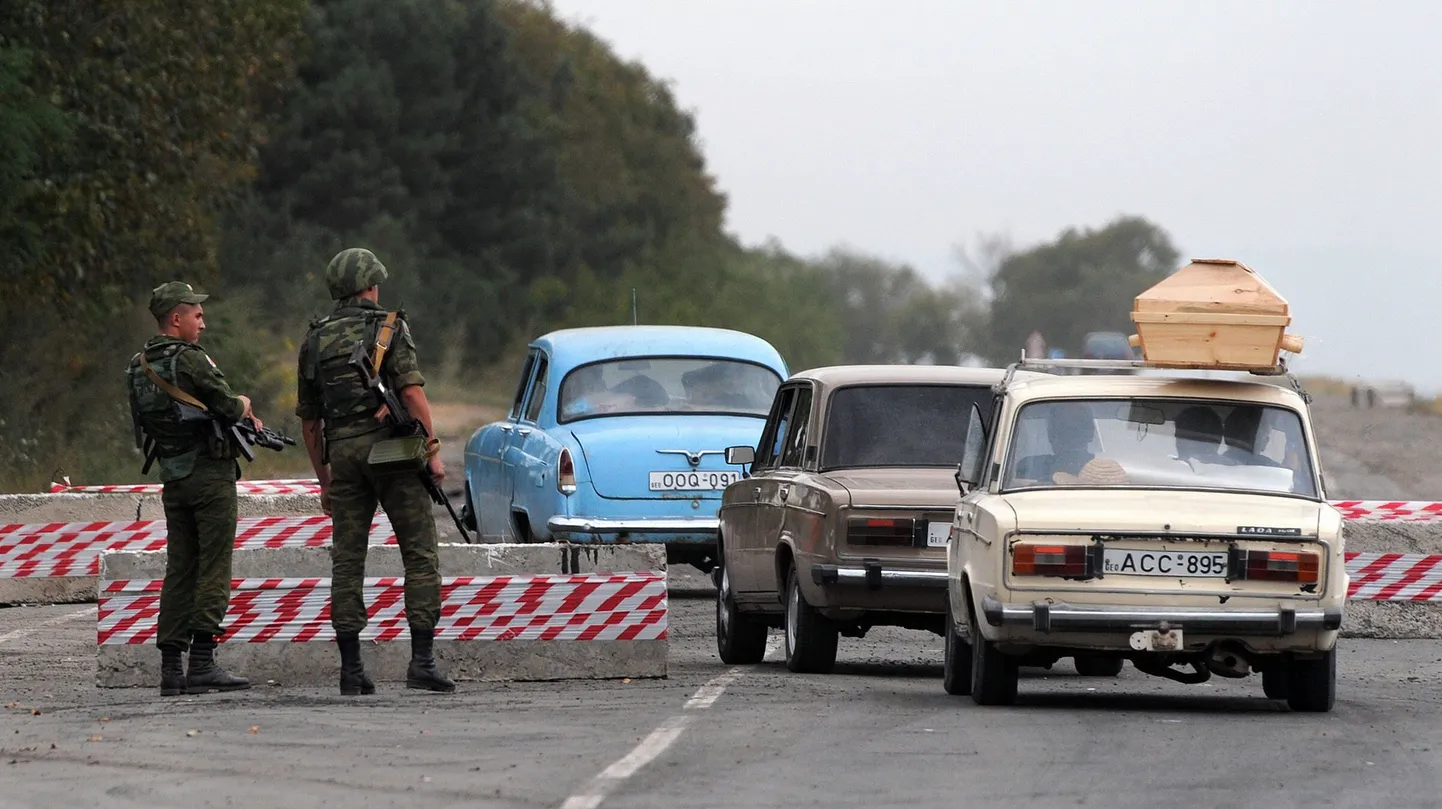
[[[222, 642], [333, 640], [329, 578], [238, 578]], [[368, 640], [410, 635], [405, 581], [366, 578]], [[99, 593], [101, 646], [153, 643], [160, 580], [108, 581]], [[440, 640], [663, 640], [663, 571], [441, 580]]]

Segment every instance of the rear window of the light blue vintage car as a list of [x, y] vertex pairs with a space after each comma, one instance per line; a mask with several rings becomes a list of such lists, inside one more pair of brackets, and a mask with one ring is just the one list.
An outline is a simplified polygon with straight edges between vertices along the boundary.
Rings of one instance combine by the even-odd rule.
[[709, 356], [623, 358], [575, 368], [561, 381], [559, 421], [597, 415], [717, 412], [766, 418], [782, 378]]

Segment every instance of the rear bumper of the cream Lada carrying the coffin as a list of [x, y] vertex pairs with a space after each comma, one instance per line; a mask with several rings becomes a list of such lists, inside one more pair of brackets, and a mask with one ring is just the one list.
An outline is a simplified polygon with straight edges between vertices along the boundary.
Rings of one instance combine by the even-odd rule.
[[1194, 633], [1285, 636], [1308, 630], [1335, 630], [1343, 624], [1341, 607], [1296, 610], [1292, 607], [1217, 610], [1198, 607], [1120, 607], [1103, 604], [1043, 603], [1002, 604], [982, 598], [982, 616], [991, 626], [1019, 626], [1035, 632], [1125, 632], [1172, 629]]

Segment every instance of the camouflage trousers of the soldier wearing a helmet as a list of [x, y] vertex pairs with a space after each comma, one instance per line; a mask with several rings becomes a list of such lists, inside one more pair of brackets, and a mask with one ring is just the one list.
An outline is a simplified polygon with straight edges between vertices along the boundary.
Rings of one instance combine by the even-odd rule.
[[375, 474], [366, 464], [385, 430], [330, 443], [330, 626], [337, 633], [365, 629], [365, 555], [379, 502], [391, 518], [405, 567], [405, 619], [435, 629], [441, 616], [441, 574], [435, 555], [431, 498], [417, 474]]

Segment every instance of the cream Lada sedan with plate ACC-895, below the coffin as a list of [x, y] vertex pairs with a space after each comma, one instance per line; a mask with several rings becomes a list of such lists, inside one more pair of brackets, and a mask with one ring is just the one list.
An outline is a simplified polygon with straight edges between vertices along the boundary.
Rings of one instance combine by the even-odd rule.
[[1260, 672], [1266, 697], [1331, 709], [1343, 516], [1295, 379], [1236, 376], [1012, 378], [970, 414], [947, 692], [1009, 704], [1018, 666], [1070, 656], [1180, 682]]

